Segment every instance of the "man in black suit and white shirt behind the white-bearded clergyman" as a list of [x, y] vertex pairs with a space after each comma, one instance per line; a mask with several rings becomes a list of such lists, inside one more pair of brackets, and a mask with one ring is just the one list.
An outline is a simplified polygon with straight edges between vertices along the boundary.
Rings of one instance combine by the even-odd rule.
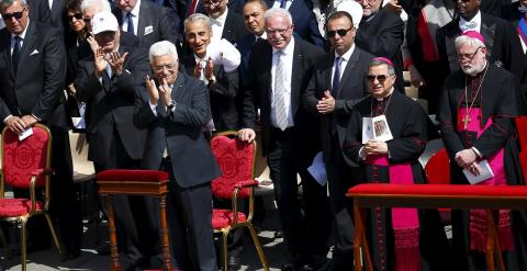
[[519, 80], [524, 101], [520, 111], [526, 110], [527, 59], [522, 50], [517, 32], [512, 24], [480, 11], [480, 0], [457, 1], [459, 18], [442, 26], [437, 33], [437, 46], [441, 63], [440, 76], [460, 70], [453, 41], [467, 31], [479, 32], [485, 38], [489, 64], [511, 71]]

